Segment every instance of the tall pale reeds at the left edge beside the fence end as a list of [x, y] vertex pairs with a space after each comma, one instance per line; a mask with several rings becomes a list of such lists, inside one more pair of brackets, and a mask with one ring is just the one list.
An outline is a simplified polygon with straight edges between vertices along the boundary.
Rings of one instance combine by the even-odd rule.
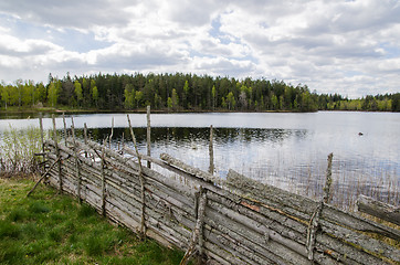
[[0, 135], [0, 174], [31, 174], [38, 172], [42, 150], [41, 135], [36, 127], [19, 130], [9, 125]]

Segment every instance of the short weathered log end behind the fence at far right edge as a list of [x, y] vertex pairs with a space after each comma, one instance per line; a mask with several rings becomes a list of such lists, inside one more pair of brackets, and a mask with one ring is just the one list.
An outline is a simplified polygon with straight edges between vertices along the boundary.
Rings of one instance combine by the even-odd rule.
[[373, 200], [370, 197], [359, 195], [356, 202], [357, 211], [368, 213], [390, 223], [400, 225], [400, 208]]

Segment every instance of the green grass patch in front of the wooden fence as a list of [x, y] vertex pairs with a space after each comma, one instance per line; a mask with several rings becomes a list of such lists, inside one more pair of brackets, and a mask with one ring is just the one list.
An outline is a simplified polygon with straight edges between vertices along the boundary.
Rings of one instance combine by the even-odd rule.
[[31, 180], [0, 178], [0, 264], [179, 264], [183, 253], [140, 241], [86, 204]]

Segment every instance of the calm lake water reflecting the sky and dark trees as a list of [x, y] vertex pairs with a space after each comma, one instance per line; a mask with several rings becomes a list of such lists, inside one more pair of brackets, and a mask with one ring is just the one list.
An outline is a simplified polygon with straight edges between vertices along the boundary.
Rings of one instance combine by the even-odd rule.
[[[146, 153], [146, 115], [130, 114], [139, 150]], [[9, 124], [23, 129], [38, 126], [27, 114], [0, 115], [0, 134]], [[67, 127], [71, 115], [66, 115]], [[129, 136], [126, 114], [74, 115], [77, 135], [84, 123], [94, 140], [110, 134], [117, 148]], [[63, 128], [62, 118], [56, 119]], [[52, 128], [50, 116], [45, 129]], [[351, 203], [359, 193], [399, 205], [399, 113], [213, 113], [152, 114], [151, 156], [161, 152], [209, 169], [209, 134], [213, 126], [214, 174], [233, 169], [264, 183], [314, 198], [322, 197], [327, 156], [334, 153], [334, 203]], [[361, 132], [362, 135], [359, 135]], [[125, 140], [125, 141], [126, 141]]]

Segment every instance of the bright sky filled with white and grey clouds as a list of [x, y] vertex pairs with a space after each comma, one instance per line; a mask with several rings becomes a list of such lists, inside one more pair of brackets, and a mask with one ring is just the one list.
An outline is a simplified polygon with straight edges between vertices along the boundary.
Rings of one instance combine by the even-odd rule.
[[400, 0], [1, 0], [0, 81], [98, 73], [400, 92]]

